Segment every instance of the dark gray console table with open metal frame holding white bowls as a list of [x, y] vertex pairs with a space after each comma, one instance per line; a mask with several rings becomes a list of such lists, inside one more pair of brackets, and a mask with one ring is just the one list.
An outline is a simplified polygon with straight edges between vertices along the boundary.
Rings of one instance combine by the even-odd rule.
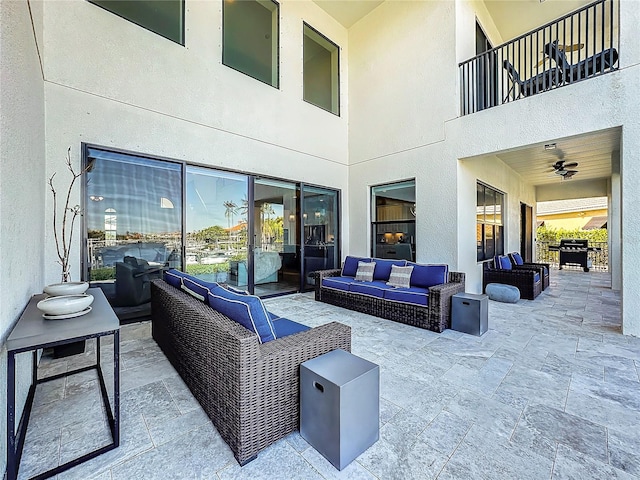
[[[65, 320], [45, 320], [36, 305], [46, 295], [34, 295], [29, 300], [18, 323], [7, 339], [7, 480], [15, 480], [18, 476], [20, 457], [22, 456], [22, 447], [27, 433], [36, 386], [44, 382], [96, 369], [113, 441], [75, 460], [38, 474], [33, 477], [34, 479], [54, 476], [104, 452], [113, 450], [120, 444], [120, 322], [115, 313], [113, 313], [113, 309], [101, 289], [90, 288], [87, 293], [94, 297], [91, 311], [81, 317]], [[100, 339], [105, 335], [113, 335], [113, 410], [111, 409], [102, 368], [100, 367]], [[95, 365], [59, 375], [38, 378], [37, 360], [39, 349], [56, 347], [90, 338], [96, 339]], [[19, 419], [18, 429], [16, 430], [16, 355], [23, 352], [32, 352], [33, 355], [32, 381], [22, 417]]]

